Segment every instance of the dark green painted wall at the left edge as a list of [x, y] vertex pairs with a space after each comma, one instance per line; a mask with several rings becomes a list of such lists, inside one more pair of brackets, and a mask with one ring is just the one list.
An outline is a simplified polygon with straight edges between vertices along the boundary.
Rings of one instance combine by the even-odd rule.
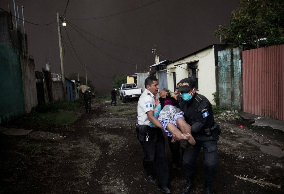
[[0, 44], [0, 121], [25, 114], [22, 71], [18, 50]]

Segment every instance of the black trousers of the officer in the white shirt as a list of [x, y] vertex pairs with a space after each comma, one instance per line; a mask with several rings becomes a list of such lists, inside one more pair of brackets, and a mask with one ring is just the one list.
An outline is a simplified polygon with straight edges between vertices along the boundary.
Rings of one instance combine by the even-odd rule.
[[145, 157], [143, 166], [146, 174], [153, 175], [154, 163], [156, 165], [158, 185], [167, 185], [169, 179], [169, 167], [165, 153], [165, 137], [159, 128], [148, 128], [148, 141], [141, 142]]

